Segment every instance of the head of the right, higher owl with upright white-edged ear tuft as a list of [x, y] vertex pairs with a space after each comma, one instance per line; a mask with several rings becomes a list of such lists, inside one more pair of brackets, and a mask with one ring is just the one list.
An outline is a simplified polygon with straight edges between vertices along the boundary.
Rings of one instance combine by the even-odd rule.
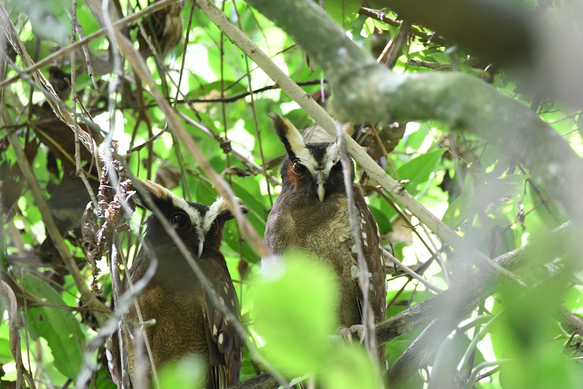
[[[286, 118], [271, 114], [276, 134], [286, 148], [282, 163], [282, 191], [306, 193], [309, 197], [325, 198], [336, 191], [345, 191], [344, 173], [340, 161], [340, 145], [336, 142], [304, 143], [300, 131]], [[351, 126], [353, 136], [356, 127]], [[350, 181], [354, 181], [354, 164], [350, 160]]]

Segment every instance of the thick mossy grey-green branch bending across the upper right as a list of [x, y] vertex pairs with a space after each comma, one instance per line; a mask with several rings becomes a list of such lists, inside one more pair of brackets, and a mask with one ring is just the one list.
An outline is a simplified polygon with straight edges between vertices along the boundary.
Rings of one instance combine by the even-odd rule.
[[322, 67], [334, 93], [332, 110], [340, 120], [437, 119], [454, 129], [467, 129], [505, 155], [517, 156], [575, 220], [583, 220], [583, 197], [578, 195], [583, 189], [583, 161], [528, 107], [462, 73], [392, 73], [308, 0], [247, 2], [290, 34]]

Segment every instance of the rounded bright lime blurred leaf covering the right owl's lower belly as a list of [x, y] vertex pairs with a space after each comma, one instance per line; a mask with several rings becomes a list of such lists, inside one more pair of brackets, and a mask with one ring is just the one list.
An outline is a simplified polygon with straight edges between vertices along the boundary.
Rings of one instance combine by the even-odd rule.
[[[301, 253], [288, 253], [285, 265], [275, 268], [254, 296], [255, 327], [266, 343], [262, 354], [289, 377], [329, 367], [329, 336], [337, 325], [335, 276]], [[283, 274], [276, 277], [278, 271]]]

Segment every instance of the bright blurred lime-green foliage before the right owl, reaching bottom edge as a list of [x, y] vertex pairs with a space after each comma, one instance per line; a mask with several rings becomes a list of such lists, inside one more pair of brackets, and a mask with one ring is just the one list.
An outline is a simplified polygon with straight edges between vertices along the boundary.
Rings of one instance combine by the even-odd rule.
[[331, 269], [298, 252], [284, 261], [255, 290], [255, 327], [266, 343], [261, 353], [289, 377], [318, 373], [324, 388], [381, 387], [380, 369], [364, 348], [330, 338], [337, 326]]

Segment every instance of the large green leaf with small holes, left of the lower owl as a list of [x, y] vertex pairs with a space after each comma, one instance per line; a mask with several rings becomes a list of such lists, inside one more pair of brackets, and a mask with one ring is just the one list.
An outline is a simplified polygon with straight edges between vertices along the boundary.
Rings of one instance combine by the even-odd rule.
[[[27, 273], [26, 289], [55, 306], [65, 306], [65, 302], [50, 283]], [[85, 333], [71, 311], [52, 307], [30, 307], [27, 310], [27, 323], [33, 339], [43, 337], [47, 340], [54, 357], [55, 367], [65, 376], [75, 379], [83, 363], [82, 347], [85, 346]]]

